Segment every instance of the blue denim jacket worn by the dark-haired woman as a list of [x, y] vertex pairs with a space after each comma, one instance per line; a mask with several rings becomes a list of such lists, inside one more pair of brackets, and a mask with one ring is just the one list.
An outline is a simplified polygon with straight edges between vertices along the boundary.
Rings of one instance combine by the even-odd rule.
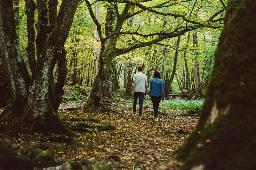
[[150, 96], [162, 96], [164, 97], [164, 82], [160, 78], [152, 78], [150, 80]]

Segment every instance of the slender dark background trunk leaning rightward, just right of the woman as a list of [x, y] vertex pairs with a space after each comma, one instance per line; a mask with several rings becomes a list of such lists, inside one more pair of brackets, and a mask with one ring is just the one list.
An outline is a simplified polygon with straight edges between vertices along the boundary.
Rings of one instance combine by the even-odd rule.
[[179, 53], [179, 50], [178, 50], [178, 47], [180, 45], [180, 36], [178, 36], [178, 40], [177, 40], [177, 43], [176, 43], [176, 50], [175, 50], [175, 56], [174, 56], [174, 62], [173, 62], [173, 68], [172, 68], [172, 75], [170, 77], [170, 79], [167, 81], [166, 85], [165, 85], [165, 98], [168, 98], [169, 97], [169, 93], [171, 92], [171, 86], [172, 86], [172, 81], [173, 81], [173, 78], [175, 76], [175, 72], [176, 72], [176, 66], [177, 66], [177, 59], [178, 59], [178, 53]]

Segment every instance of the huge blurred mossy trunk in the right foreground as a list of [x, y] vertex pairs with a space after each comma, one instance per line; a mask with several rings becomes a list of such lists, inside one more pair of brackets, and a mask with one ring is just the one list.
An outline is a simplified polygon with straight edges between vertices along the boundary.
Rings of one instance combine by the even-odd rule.
[[[227, 5], [200, 120], [173, 155], [180, 169], [255, 169], [255, 11], [254, 0]], [[166, 165], [162, 169], [177, 167], [175, 161]]]

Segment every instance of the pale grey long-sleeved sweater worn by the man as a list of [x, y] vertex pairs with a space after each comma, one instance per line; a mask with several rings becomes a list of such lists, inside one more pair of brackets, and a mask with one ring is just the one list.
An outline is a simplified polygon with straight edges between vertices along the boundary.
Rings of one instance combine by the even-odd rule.
[[132, 85], [134, 87], [134, 92], [146, 92], [146, 87], [148, 87], [147, 76], [141, 72], [133, 75]]

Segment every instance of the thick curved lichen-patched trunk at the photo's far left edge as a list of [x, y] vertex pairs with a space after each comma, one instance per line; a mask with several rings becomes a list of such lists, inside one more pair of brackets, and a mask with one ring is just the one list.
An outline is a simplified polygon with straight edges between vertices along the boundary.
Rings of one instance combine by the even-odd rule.
[[30, 77], [20, 54], [12, 1], [0, 1], [0, 57], [10, 87], [10, 98], [0, 115], [0, 122], [10, 128], [20, 120], [28, 99]]

